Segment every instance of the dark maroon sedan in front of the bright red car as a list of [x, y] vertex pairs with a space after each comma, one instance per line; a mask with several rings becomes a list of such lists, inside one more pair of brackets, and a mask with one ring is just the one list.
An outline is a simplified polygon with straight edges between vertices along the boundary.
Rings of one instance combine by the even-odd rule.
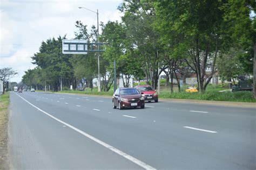
[[[143, 94], [143, 93], [142, 93]], [[112, 98], [113, 109], [145, 108], [144, 97], [136, 88], [118, 88]]]

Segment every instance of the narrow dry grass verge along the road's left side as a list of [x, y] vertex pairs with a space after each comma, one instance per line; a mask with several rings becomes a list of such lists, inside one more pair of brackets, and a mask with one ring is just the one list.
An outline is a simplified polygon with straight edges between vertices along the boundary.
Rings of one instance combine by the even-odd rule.
[[0, 95], [0, 169], [8, 169], [7, 164], [7, 128], [8, 128], [9, 92]]

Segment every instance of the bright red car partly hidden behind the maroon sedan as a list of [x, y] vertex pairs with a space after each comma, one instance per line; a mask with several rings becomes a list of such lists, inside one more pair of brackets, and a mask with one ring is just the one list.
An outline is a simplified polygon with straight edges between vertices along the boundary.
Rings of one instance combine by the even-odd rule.
[[138, 89], [140, 92], [143, 93], [143, 96], [145, 98], [145, 101], [154, 101], [158, 102], [158, 94], [156, 90], [153, 90], [151, 86], [144, 85], [144, 86], [136, 86], [136, 89]]

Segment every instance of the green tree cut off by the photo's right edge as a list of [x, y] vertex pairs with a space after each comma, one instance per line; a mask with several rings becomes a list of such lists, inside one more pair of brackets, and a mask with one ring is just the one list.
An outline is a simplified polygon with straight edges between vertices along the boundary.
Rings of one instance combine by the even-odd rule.
[[[240, 62], [253, 74], [254, 98], [256, 98], [256, 20], [255, 1], [229, 0], [221, 8], [225, 12], [226, 38], [228, 45], [241, 47], [244, 55]], [[254, 15], [253, 15], [254, 14]], [[251, 16], [250, 16], [251, 15]]]

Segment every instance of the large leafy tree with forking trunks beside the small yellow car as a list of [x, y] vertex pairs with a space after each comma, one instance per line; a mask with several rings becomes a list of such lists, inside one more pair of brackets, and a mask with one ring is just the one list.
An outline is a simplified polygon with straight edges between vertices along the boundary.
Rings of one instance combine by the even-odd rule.
[[[178, 49], [187, 53], [185, 60], [196, 72], [198, 87], [203, 93], [215, 72], [224, 13], [219, 8], [223, 3], [200, 0], [153, 2], [165, 46], [171, 46], [174, 52]], [[209, 62], [212, 72], [207, 75]]]

